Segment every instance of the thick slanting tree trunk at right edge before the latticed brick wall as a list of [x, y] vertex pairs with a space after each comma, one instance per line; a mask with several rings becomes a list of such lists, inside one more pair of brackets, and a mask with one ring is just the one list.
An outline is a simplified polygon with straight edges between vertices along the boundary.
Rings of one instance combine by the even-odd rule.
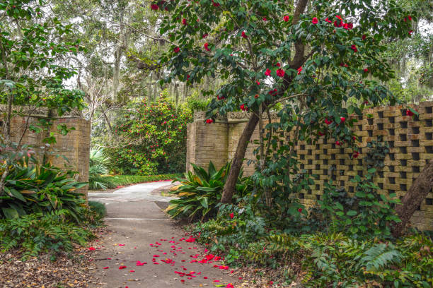
[[396, 208], [396, 213], [401, 222], [393, 225], [393, 236], [399, 237], [405, 232], [405, 228], [413, 213], [421, 205], [422, 201], [433, 188], [433, 160], [426, 165], [420, 176], [413, 182], [409, 191], [401, 200], [401, 205]]

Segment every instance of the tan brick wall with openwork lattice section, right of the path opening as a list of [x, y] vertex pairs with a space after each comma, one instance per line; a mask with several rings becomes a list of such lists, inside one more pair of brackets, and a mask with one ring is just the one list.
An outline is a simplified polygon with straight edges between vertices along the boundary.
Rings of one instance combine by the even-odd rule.
[[[362, 157], [366, 145], [379, 135], [388, 141], [390, 153], [386, 156], [385, 167], [374, 181], [380, 193], [403, 196], [427, 161], [433, 160], [433, 102], [422, 102], [412, 107], [420, 113], [415, 119], [406, 116], [405, 109], [400, 106], [366, 109], [354, 126], [361, 148], [358, 159], [351, 159], [352, 150], [335, 146], [331, 139], [326, 141], [322, 137], [314, 145], [299, 141], [296, 152], [301, 169], [317, 175], [311, 190], [299, 193], [301, 202], [312, 205], [320, 199], [329, 179], [353, 193], [354, 184], [350, 180], [355, 175], [364, 175], [366, 167]], [[221, 167], [231, 160], [247, 119], [248, 114], [233, 112], [224, 119], [217, 119], [215, 124], [204, 124], [204, 114], [196, 113], [195, 121], [188, 124], [187, 130], [187, 169], [190, 169], [190, 163], [207, 165], [212, 160], [215, 166]], [[255, 139], [258, 139], [258, 128], [252, 137], [252, 140]], [[247, 165], [247, 160], [255, 160], [254, 148], [253, 143], [248, 145], [243, 164], [245, 175], [254, 172], [254, 165]], [[427, 195], [411, 222], [420, 229], [433, 230], [433, 191]]]

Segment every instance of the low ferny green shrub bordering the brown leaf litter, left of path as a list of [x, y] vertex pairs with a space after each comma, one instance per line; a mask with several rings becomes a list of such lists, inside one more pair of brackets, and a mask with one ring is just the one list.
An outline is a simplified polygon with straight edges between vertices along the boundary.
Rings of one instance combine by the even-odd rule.
[[56, 210], [0, 220], [0, 248], [22, 248], [23, 259], [50, 252], [52, 258], [61, 251], [72, 251], [73, 244], [84, 246], [93, 234], [78, 224], [69, 222], [70, 210]]

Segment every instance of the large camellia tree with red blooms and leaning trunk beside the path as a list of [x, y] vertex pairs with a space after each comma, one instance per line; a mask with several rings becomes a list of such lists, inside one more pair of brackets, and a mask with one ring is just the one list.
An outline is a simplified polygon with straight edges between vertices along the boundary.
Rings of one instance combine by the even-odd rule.
[[[351, 130], [356, 115], [364, 107], [396, 102], [381, 84], [393, 78], [381, 52], [386, 41], [411, 37], [416, 18], [393, 0], [158, 1], [151, 8], [170, 11], [160, 30], [173, 44], [171, 53], [161, 58], [170, 68], [164, 80], [222, 78], [225, 84], [214, 92], [207, 123], [217, 113], [250, 112], [223, 203], [231, 202], [258, 124], [260, 181], [264, 186], [294, 186], [294, 139], [278, 148], [277, 139], [268, 135], [268, 147], [277, 157], [264, 149], [262, 117], [277, 103], [283, 108], [274, 129], [307, 142], [332, 139], [336, 146], [353, 148], [352, 157], [358, 157], [357, 136]], [[408, 115], [414, 113], [408, 109]]]

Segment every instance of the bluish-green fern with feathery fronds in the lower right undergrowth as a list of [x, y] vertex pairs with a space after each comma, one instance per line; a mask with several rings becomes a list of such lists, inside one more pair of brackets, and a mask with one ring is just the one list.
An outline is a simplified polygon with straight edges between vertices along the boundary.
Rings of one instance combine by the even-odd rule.
[[366, 271], [379, 271], [390, 264], [399, 263], [401, 258], [401, 253], [393, 245], [375, 244], [359, 260], [358, 268], [365, 268]]

